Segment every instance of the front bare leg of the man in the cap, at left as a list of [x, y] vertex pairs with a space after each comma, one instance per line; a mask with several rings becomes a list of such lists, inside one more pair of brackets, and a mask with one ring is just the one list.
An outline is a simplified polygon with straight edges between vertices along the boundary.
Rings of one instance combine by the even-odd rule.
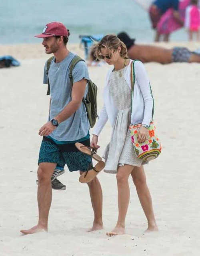
[[41, 163], [38, 167], [38, 224], [28, 230], [20, 230], [23, 234], [34, 234], [39, 231], [48, 231], [48, 214], [52, 201], [51, 176], [56, 164]]

